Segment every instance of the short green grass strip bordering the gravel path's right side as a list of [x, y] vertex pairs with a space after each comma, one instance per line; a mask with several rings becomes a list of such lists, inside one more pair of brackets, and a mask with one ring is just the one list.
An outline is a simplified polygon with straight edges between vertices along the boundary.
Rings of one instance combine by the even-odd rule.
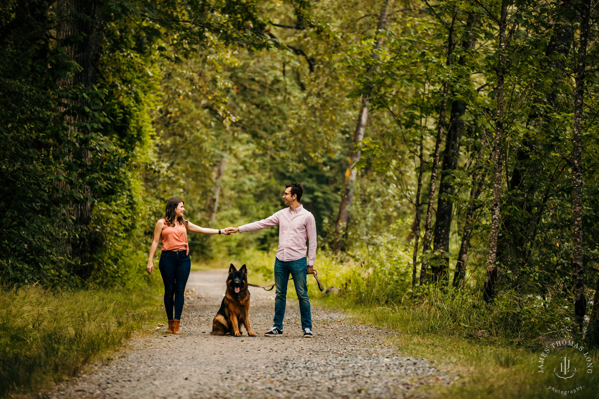
[[[563, 397], [549, 391], [549, 386], [583, 386], [576, 398], [597, 398], [599, 371], [586, 373], [585, 359], [579, 351], [567, 350], [552, 358], [544, 373], [539, 373], [540, 349], [530, 345], [520, 346], [492, 343], [484, 338], [468, 338], [450, 334], [414, 334], [419, 326], [410, 315], [409, 309], [385, 309], [383, 307], [356, 306], [343, 298], [323, 298], [316, 301], [320, 306], [334, 306], [346, 310], [353, 321], [390, 328], [397, 334], [389, 338], [388, 344], [398, 347], [410, 356], [431, 361], [436, 367], [459, 376], [449, 386], [423, 388], [432, 397], [444, 399], [494, 398], [528, 399]], [[429, 321], [433, 322], [433, 321]], [[571, 356], [572, 364], [579, 365], [577, 374], [564, 383], [553, 374], [559, 370], [559, 356]], [[588, 355], [597, 367], [599, 352]], [[582, 370], [581, 370], [582, 369]], [[563, 388], [562, 388], [563, 389]]]

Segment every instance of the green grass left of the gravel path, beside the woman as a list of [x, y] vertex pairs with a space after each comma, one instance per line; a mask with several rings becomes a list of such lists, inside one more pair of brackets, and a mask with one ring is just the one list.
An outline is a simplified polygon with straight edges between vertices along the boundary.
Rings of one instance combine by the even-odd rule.
[[164, 310], [158, 285], [132, 290], [0, 291], [0, 397], [46, 388], [75, 376], [134, 333], [153, 328]]

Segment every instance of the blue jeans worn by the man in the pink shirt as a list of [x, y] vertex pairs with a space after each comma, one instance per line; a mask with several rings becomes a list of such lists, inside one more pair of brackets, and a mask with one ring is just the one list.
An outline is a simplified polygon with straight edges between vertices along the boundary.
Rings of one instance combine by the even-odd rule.
[[274, 327], [279, 328], [279, 330], [283, 330], [289, 274], [294, 278], [295, 292], [298, 294], [301, 328], [302, 330], [304, 328], [310, 328], [311, 330], [312, 328], [312, 315], [306, 283], [307, 267], [305, 258], [290, 262], [283, 262], [276, 258], [274, 261], [274, 284], [277, 288], [277, 295], [274, 298]]

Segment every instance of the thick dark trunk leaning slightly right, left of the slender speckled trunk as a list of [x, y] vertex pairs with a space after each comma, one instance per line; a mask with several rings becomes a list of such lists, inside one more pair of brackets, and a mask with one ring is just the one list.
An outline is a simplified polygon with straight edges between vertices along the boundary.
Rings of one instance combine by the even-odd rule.
[[[461, 47], [464, 52], [474, 46], [472, 40], [472, 27], [476, 17], [474, 14], [468, 14], [466, 21], [466, 31], [462, 38]], [[462, 54], [459, 57], [458, 64], [461, 67], [466, 65], [466, 57]], [[464, 74], [464, 81], [468, 80], [470, 74]], [[441, 167], [441, 180], [439, 184], [439, 194], [437, 197], [437, 219], [435, 222], [435, 233], [433, 246], [435, 251], [449, 253], [449, 234], [452, 222], [453, 185], [450, 178], [453, 171], [458, 167], [459, 146], [462, 140], [462, 131], [464, 130], [464, 121], [462, 117], [466, 113], [466, 102], [462, 99], [456, 99], [451, 104], [451, 114], [449, 117], [449, 128], [447, 129], [447, 138], [445, 140], [445, 149], [443, 150], [443, 165]], [[435, 282], [440, 281], [447, 285], [447, 271], [449, 270], [449, 256], [443, 255], [446, 264], [431, 268], [432, 279]]]

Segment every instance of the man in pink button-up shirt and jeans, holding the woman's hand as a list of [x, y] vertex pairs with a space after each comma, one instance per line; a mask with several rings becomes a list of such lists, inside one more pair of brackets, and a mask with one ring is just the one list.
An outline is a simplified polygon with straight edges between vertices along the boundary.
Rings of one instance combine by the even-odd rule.
[[[298, 295], [304, 338], [313, 337], [306, 277], [307, 274], [314, 273], [316, 222], [314, 216], [299, 203], [303, 192], [304, 188], [301, 184], [291, 183], [286, 186], [283, 193], [283, 200], [285, 200], [285, 205], [289, 205], [289, 208], [282, 209], [273, 216], [259, 222], [225, 229], [227, 232], [246, 232], [279, 225], [279, 249], [277, 249], [277, 256], [274, 260], [274, 284], [277, 290], [274, 300], [274, 325], [264, 334], [266, 337], [276, 337], [283, 334], [283, 317], [285, 317], [289, 274], [294, 279], [295, 292]], [[305, 245], [306, 239], [309, 243], [308, 248]], [[307, 261], [306, 250], [308, 251]]]

